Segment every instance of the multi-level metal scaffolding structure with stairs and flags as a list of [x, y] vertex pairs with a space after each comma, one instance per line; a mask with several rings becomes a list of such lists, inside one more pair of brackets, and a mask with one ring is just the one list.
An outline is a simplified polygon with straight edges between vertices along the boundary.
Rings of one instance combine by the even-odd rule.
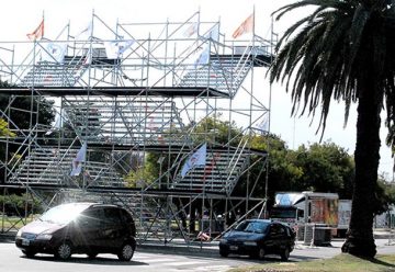
[[[227, 215], [242, 208], [259, 216], [266, 200], [253, 192], [268, 154], [251, 148], [251, 139], [270, 109], [263, 91], [253, 90], [253, 70], [270, 64], [273, 41], [255, 33], [227, 39], [219, 26], [201, 22], [200, 12], [181, 23], [115, 27], [92, 14], [76, 36], [67, 25], [52, 41], [4, 43], [0, 80], [8, 83], [0, 95], [8, 106], [0, 120], [11, 132], [0, 134], [4, 197], [20, 190], [44, 207], [116, 203], [134, 215], [139, 242], [192, 242], [198, 231], [215, 238], [234, 223]], [[55, 112], [52, 125], [43, 123], [43, 107]], [[20, 113], [29, 116], [24, 127], [14, 122]], [[234, 129], [234, 121], [242, 127]], [[206, 163], [182, 174], [203, 145]], [[146, 174], [148, 158], [156, 177]], [[258, 174], [250, 174], [253, 167]], [[241, 179], [246, 193], [234, 195]], [[23, 223], [32, 209], [26, 204]], [[3, 205], [2, 231], [16, 228], [4, 228], [7, 220]]]

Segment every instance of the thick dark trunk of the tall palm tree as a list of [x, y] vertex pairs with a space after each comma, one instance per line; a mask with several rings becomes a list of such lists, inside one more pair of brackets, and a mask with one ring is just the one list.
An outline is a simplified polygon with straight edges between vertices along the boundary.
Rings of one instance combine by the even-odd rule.
[[354, 151], [356, 182], [347, 240], [342, 252], [373, 258], [376, 247], [373, 238], [373, 206], [380, 161], [380, 112], [382, 92], [371, 75], [359, 81], [357, 146]]

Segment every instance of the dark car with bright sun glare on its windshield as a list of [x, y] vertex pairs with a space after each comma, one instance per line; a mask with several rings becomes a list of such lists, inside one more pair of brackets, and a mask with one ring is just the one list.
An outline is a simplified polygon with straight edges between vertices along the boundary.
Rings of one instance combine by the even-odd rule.
[[22, 227], [15, 245], [31, 258], [55, 254], [66, 260], [72, 253], [114, 253], [129, 261], [136, 249], [136, 228], [131, 214], [116, 205], [68, 203], [48, 209]]

